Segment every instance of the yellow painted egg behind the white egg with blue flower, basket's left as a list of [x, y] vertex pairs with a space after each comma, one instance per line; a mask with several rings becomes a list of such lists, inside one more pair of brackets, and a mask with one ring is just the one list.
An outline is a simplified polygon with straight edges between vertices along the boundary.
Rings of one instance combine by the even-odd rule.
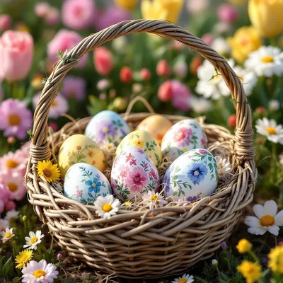
[[79, 162], [91, 164], [100, 171], [105, 169], [105, 156], [98, 144], [83, 134], [73, 134], [59, 149], [58, 166], [62, 177]]

